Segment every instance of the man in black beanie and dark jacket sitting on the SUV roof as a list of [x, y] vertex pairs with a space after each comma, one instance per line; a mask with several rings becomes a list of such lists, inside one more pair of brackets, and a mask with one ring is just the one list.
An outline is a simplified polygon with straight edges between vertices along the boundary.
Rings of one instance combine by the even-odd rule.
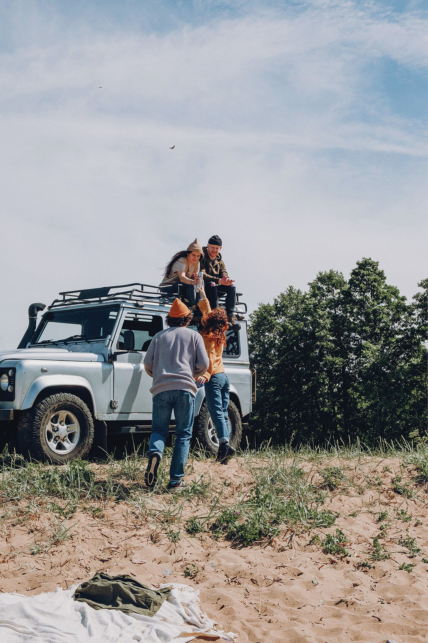
[[201, 270], [205, 272], [205, 293], [210, 302], [211, 309], [218, 307], [218, 293], [226, 293], [226, 314], [230, 326], [237, 323], [234, 314], [236, 305], [236, 288], [234, 280], [227, 274], [225, 262], [221, 258], [221, 239], [218, 235], [209, 238], [207, 246], [203, 247], [203, 256], [200, 258]]

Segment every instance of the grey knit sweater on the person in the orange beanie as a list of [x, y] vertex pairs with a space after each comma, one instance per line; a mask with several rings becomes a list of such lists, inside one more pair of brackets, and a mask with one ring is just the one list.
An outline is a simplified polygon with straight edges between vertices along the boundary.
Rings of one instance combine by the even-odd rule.
[[153, 397], [162, 391], [182, 390], [196, 395], [195, 377], [209, 367], [207, 351], [198, 332], [183, 326], [158, 332], [144, 358], [146, 373], [153, 377]]

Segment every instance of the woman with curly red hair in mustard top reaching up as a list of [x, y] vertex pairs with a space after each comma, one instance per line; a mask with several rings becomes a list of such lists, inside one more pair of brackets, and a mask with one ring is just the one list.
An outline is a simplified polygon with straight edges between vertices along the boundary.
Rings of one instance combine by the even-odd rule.
[[201, 301], [199, 302], [202, 312], [201, 336], [210, 362], [207, 372], [198, 377], [198, 382], [205, 384], [205, 399], [212, 422], [216, 427], [219, 442], [217, 460], [221, 464], [227, 464], [230, 458], [235, 455], [235, 449], [229, 444], [230, 425], [227, 407], [230, 386], [222, 359], [228, 329], [227, 314], [222, 308], [211, 310], [203, 283], [198, 285], [198, 291], [201, 293]]

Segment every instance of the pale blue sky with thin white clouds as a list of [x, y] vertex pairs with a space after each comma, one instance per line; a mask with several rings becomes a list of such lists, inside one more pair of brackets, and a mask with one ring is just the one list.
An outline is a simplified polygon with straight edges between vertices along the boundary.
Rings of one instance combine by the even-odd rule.
[[410, 298], [425, 20], [414, 2], [1, 3], [3, 344], [29, 303], [157, 284], [212, 233], [250, 309], [368, 256]]

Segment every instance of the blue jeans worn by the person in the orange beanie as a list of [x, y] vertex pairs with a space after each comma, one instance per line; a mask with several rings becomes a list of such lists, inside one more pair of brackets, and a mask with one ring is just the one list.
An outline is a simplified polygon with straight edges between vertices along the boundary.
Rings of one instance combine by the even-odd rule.
[[162, 391], [153, 397], [149, 456], [151, 453], [162, 455], [164, 452], [173, 411], [175, 415], [175, 445], [169, 467], [169, 482], [177, 484], [184, 476], [184, 466], [189, 455], [192, 437], [194, 397], [191, 393], [182, 390]]

